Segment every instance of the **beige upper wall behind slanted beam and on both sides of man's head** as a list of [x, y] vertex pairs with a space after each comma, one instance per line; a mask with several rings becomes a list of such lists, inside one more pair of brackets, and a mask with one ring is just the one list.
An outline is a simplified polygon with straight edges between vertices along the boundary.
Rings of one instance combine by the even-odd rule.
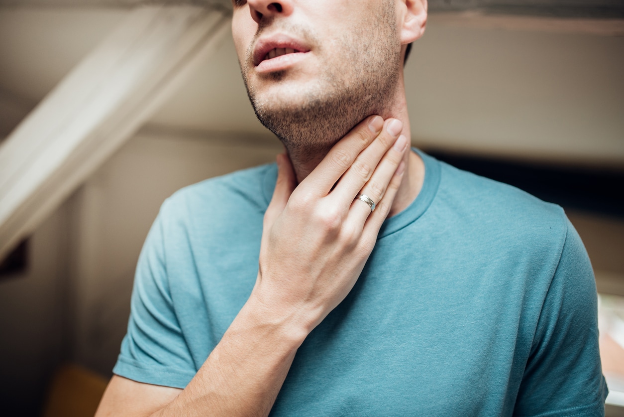
[[[127, 9], [0, 8], [0, 135]], [[463, 22], [463, 23], [462, 23]], [[501, 29], [432, 14], [406, 67], [414, 143], [425, 148], [624, 164], [624, 37], [568, 25]], [[150, 123], [263, 134], [228, 39]]]

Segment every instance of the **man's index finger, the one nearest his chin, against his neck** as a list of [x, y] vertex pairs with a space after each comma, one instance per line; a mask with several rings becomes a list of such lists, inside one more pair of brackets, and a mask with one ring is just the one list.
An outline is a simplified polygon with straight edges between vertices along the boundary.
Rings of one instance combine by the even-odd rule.
[[[359, 153], [378, 136], [383, 126], [384, 119], [381, 116], [370, 116], [361, 121], [331, 148], [318, 167], [301, 184], [306, 183], [306, 187], [318, 197], [326, 196], [336, 181], [351, 167]], [[379, 158], [381, 155], [383, 153]]]

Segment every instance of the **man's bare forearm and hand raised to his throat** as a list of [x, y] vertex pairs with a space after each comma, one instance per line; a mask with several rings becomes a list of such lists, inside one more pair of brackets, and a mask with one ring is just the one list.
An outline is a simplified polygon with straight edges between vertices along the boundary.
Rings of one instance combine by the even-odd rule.
[[[351, 291], [391, 208], [407, 141], [389, 122], [364, 120], [298, 186], [278, 156], [258, 278], [221, 341], [183, 390], [115, 376], [96, 416], [268, 415], [296, 350]], [[378, 202], [373, 213], [354, 201], [359, 192]]]

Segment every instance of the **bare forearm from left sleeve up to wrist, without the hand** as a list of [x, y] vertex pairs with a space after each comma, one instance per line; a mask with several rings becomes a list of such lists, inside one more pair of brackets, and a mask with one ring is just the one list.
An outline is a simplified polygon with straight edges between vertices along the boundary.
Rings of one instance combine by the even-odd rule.
[[304, 337], [268, 314], [250, 298], [183, 390], [114, 376], [96, 416], [266, 416]]

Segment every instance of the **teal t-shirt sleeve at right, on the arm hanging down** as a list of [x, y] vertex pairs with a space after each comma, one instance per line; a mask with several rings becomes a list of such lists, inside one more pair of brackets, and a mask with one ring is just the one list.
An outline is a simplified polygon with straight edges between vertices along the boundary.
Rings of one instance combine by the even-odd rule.
[[592, 265], [568, 219], [518, 393], [515, 416], [604, 416]]

